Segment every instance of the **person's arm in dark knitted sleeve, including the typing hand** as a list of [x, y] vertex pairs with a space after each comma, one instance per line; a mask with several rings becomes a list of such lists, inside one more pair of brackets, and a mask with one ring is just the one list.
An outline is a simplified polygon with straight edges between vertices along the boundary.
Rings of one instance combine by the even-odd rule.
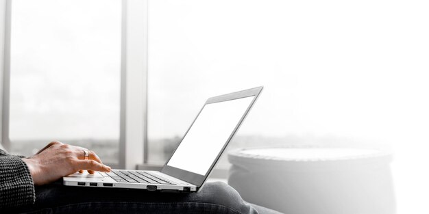
[[35, 202], [34, 185], [45, 185], [75, 172], [110, 172], [95, 152], [51, 142], [36, 155], [23, 158], [0, 150], [0, 209]]

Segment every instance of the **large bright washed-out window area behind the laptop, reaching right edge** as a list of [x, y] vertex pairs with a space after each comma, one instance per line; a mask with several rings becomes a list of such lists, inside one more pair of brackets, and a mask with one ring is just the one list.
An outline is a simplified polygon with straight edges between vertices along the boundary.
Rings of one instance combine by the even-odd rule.
[[397, 213], [425, 213], [408, 196], [429, 188], [428, 8], [150, 1], [149, 163], [164, 163], [208, 96], [265, 85], [230, 148], [391, 148]]

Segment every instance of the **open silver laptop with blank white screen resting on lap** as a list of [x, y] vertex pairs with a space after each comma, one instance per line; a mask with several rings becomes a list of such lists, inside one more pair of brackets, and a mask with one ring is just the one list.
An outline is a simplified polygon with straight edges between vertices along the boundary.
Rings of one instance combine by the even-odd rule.
[[262, 88], [208, 98], [160, 171], [111, 170], [95, 174], [77, 172], [65, 176], [63, 184], [165, 192], [199, 191]]

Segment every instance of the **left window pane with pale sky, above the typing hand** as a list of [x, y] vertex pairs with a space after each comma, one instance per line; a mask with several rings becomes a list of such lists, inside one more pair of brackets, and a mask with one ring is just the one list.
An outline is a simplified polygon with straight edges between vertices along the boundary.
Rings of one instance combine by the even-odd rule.
[[120, 0], [12, 1], [10, 65], [12, 152], [59, 140], [118, 162]]

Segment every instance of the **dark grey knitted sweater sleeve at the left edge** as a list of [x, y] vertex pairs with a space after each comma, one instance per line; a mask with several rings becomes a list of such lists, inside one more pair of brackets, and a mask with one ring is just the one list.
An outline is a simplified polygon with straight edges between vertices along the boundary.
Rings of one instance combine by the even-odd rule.
[[34, 183], [21, 157], [0, 150], [0, 209], [33, 204]]

